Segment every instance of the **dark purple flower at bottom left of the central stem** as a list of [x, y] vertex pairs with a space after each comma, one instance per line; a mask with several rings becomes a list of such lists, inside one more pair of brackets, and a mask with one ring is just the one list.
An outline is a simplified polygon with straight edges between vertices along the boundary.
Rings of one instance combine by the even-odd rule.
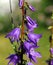
[[16, 65], [17, 63], [19, 63], [20, 56], [18, 56], [17, 54], [12, 54], [7, 57], [7, 59], [10, 59], [8, 65], [10, 65], [11, 63], [13, 63], [13, 65]]

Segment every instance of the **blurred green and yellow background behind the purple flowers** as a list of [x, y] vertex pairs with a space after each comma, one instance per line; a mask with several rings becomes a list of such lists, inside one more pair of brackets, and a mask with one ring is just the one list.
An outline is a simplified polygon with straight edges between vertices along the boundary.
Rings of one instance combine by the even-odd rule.
[[[29, 0], [26, 0], [29, 2]], [[9, 1], [8, 1], [9, 2]], [[8, 2], [6, 2], [6, 5]], [[5, 2], [3, 1], [4, 5]], [[2, 4], [2, 3], [1, 3]], [[42, 34], [42, 38], [38, 42], [40, 46], [37, 51], [41, 52], [42, 58], [37, 59], [37, 64], [34, 65], [47, 65], [46, 60], [49, 58], [49, 36], [51, 32], [48, 30], [48, 26], [53, 25], [53, 20], [51, 19], [52, 11], [53, 11], [53, 0], [31, 0], [29, 4], [33, 5], [36, 8], [35, 12], [31, 12], [28, 9], [27, 15], [31, 18], [36, 19], [39, 25], [38, 28], [34, 30], [35, 33]], [[6, 6], [3, 4], [0, 5], [0, 65], [7, 65], [9, 60], [6, 60], [10, 54], [14, 53], [12, 45], [10, 41], [5, 38], [5, 35], [11, 31], [11, 14], [10, 10], [6, 10]], [[2, 9], [3, 6], [4, 8]], [[12, 0], [12, 16], [13, 22], [15, 26], [21, 24], [21, 10], [18, 7], [18, 1]], [[5, 12], [4, 12], [5, 11]], [[26, 58], [24, 56], [24, 58]]]

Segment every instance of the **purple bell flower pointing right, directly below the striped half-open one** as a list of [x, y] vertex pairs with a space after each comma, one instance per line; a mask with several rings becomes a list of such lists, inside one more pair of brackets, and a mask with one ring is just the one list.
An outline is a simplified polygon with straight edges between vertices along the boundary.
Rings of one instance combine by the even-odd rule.
[[31, 33], [31, 32], [29, 32], [29, 33], [27, 34], [27, 36], [28, 36], [28, 39], [29, 39], [31, 42], [33, 42], [34, 44], [35, 44], [36, 42], [38, 42], [39, 39], [42, 37], [41, 34], [34, 34], [34, 33]]

